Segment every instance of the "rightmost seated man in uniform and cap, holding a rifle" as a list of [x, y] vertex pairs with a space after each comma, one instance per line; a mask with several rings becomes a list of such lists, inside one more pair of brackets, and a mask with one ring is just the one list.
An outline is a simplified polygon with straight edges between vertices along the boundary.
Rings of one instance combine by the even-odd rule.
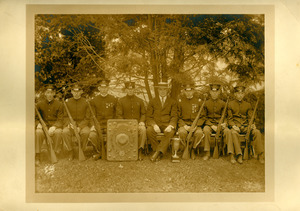
[[[245, 86], [238, 83], [234, 88], [235, 100], [228, 104], [228, 124], [232, 128], [232, 139], [234, 145], [235, 155], [238, 157], [238, 162], [242, 163], [242, 150], [240, 146], [239, 133], [246, 133], [249, 127], [249, 121], [253, 114], [251, 104], [244, 101]], [[261, 133], [256, 129], [255, 124], [250, 125], [251, 136], [253, 137], [252, 146], [254, 147], [255, 153], [258, 155], [260, 163], [264, 163], [263, 159], [263, 143], [261, 139]], [[231, 162], [235, 163], [234, 153], [232, 150]]]

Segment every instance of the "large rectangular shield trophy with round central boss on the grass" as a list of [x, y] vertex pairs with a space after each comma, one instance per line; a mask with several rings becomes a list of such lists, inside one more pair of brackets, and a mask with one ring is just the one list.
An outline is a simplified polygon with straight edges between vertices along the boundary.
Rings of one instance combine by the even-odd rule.
[[109, 119], [107, 121], [107, 160], [136, 161], [138, 159], [138, 121]]

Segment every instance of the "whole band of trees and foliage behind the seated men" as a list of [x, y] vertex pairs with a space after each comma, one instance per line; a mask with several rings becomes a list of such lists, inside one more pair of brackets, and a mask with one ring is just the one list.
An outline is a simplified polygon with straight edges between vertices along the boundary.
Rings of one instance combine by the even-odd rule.
[[264, 81], [263, 15], [37, 15], [35, 43], [37, 89], [132, 80], [151, 99], [159, 81], [175, 98], [190, 81]]

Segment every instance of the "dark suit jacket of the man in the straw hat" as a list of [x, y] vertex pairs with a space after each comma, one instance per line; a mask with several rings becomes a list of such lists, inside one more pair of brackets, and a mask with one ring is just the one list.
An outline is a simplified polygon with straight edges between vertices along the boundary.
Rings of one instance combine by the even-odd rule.
[[147, 126], [157, 125], [172, 125], [174, 128], [177, 126], [177, 104], [176, 101], [167, 97], [164, 105], [162, 106], [159, 97], [153, 98], [148, 105], [146, 112]]

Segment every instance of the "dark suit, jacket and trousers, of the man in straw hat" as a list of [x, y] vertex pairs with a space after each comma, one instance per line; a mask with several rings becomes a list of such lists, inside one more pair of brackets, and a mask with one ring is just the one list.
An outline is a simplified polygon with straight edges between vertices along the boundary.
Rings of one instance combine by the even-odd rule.
[[[158, 125], [161, 131], [164, 133], [164, 138], [159, 143], [156, 140], [157, 133], [153, 126]], [[171, 125], [170, 132], [166, 132], [165, 129]], [[157, 152], [165, 154], [170, 144], [170, 139], [175, 134], [177, 126], [177, 104], [176, 101], [170, 97], [166, 97], [165, 102], [162, 103], [160, 97], [155, 97], [149, 102], [146, 112], [146, 126], [147, 126], [147, 138], [152, 146], [152, 149]]]

